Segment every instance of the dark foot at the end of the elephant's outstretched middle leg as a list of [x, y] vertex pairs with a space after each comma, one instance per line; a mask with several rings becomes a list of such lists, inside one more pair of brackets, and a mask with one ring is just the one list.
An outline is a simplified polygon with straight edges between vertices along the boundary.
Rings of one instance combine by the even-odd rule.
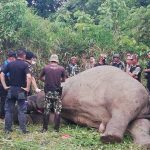
[[105, 144], [109, 144], [109, 143], [120, 143], [121, 142], [121, 138], [117, 135], [102, 135], [101, 136], [101, 141]]

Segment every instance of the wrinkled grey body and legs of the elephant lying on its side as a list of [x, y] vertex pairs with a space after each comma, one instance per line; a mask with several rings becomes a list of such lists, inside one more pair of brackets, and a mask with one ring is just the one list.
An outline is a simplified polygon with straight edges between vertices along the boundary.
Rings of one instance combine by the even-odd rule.
[[103, 142], [120, 142], [128, 127], [135, 143], [150, 146], [148, 92], [120, 69], [100, 66], [67, 79], [62, 102], [63, 118], [99, 129]]

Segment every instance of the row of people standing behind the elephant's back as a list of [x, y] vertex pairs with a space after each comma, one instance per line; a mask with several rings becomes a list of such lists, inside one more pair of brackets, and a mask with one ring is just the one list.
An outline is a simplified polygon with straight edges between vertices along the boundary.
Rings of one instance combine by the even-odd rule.
[[[150, 52], [147, 53], [148, 58], [150, 58]], [[141, 73], [144, 72], [144, 75], [147, 79], [147, 89], [150, 91], [150, 62], [148, 62], [146, 69], [142, 69], [138, 61], [137, 54], [127, 53], [125, 57], [125, 62], [121, 61], [119, 54], [114, 54], [110, 64], [106, 61], [106, 54], [101, 54], [96, 62], [94, 56], [90, 56], [89, 59], [84, 58], [81, 66], [78, 65], [77, 57], [71, 57], [70, 63], [67, 66], [68, 76], [73, 76], [78, 74], [80, 71], [84, 71], [93, 67], [102, 66], [102, 65], [111, 65], [121, 69], [128, 73], [131, 77], [141, 82]]]

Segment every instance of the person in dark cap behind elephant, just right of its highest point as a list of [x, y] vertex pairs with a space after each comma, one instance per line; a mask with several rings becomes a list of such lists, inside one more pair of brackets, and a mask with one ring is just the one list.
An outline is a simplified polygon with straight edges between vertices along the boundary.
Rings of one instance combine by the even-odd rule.
[[111, 65], [114, 67], [117, 67], [121, 70], [125, 70], [125, 65], [124, 63], [120, 60], [120, 55], [119, 54], [114, 54], [113, 55], [113, 61], [111, 62]]

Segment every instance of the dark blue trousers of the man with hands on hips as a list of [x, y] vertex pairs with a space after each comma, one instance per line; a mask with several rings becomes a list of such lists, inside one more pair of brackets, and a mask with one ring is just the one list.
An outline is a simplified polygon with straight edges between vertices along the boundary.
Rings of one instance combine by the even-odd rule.
[[[13, 92], [12, 92], [13, 91]], [[20, 129], [26, 131], [26, 99], [23, 92], [19, 88], [12, 88], [8, 91], [6, 102], [5, 102], [5, 130], [12, 129], [13, 123], [13, 113], [15, 109], [15, 104], [17, 102], [18, 106], [18, 120]], [[22, 96], [19, 99], [19, 93]]]

